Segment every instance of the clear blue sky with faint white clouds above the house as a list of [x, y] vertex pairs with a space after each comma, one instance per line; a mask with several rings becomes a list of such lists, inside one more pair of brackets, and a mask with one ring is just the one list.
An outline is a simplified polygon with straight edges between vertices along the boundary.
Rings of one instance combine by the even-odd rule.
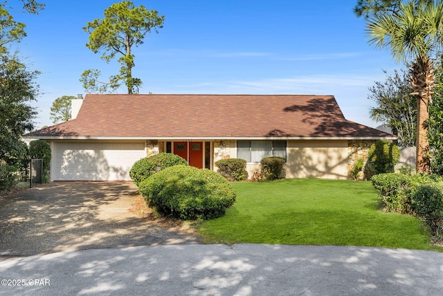
[[[84, 70], [98, 68], [105, 78], [120, 68], [92, 53], [82, 30], [116, 0], [42, 2], [39, 15], [14, 14], [28, 33], [20, 55], [42, 72], [38, 128], [52, 125], [56, 98], [85, 94]], [[383, 69], [404, 67], [368, 44], [365, 22], [352, 12], [356, 0], [133, 2], [165, 15], [159, 34], [134, 48], [140, 93], [334, 95], [348, 120], [377, 127], [368, 88], [385, 80]]]

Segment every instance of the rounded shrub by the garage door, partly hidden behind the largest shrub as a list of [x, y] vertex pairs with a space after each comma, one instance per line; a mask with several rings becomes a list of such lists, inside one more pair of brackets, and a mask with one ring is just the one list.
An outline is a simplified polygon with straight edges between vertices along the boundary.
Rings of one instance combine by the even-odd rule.
[[188, 165], [186, 160], [171, 153], [154, 154], [153, 156], [137, 160], [129, 171], [129, 176], [137, 186], [152, 174], [172, 167], [173, 165]]

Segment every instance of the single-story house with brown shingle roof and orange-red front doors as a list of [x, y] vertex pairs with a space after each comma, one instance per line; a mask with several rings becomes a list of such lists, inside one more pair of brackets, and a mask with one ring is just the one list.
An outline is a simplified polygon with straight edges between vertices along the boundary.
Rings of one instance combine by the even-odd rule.
[[375, 140], [396, 137], [346, 120], [332, 95], [86, 95], [72, 120], [25, 138], [51, 144], [51, 181], [129, 181], [136, 160], [170, 152], [192, 166], [265, 156], [287, 178], [346, 179]]

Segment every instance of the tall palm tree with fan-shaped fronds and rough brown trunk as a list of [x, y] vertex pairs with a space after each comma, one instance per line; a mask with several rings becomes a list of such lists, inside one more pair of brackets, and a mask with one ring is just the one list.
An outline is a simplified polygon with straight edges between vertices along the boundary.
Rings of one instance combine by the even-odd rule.
[[397, 14], [374, 15], [367, 24], [369, 43], [388, 48], [398, 62], [410, 64], [410, 83], [417, 98], [417, 173], [430, 172], [428, 104], [436, 86], [431, 57], [442, 46], [443, 4], [438, 1], [400, 3]]

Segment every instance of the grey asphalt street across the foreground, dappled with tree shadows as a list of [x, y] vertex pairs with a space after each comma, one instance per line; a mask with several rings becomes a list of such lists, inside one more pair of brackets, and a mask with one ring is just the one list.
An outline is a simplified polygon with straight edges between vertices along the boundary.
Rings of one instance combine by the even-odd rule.
[[145, 246], [5, 259], [0, 275], [0, 295], [442, 295], [443, 254], [338, 246]]

